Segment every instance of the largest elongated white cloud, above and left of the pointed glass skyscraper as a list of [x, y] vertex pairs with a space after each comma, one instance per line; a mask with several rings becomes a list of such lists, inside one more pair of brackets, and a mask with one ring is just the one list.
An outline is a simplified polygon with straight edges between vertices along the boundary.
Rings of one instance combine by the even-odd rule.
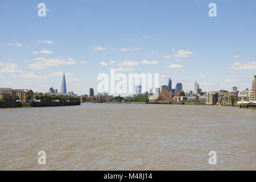
[[35, 58], [36, 63], [31, 63], [28, 65], [31, 69], [45, 69], [47, 67], [56, 67], [57, 65], [64, 64], [64, 65], [73, 65], [76, 64], [76, 62], [69, 58], [68, 60], [65, 59], [47, 59], [45, 57], [36, 57]]

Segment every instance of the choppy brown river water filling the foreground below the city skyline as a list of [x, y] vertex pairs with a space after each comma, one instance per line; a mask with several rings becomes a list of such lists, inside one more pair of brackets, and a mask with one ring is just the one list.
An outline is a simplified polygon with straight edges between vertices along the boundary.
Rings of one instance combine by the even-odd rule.
[[[0, 109], [0, 170], [255, 170], [256, 110], [82, 104]], [[46, 165], [38, 152], [46, 152]], [[210, 165], [209, 151], [217, 164]]]

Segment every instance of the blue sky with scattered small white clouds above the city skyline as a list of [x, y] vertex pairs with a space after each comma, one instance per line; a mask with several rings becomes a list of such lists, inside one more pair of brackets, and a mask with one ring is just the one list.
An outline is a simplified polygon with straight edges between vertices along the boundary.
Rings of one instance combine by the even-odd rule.
[[[46, 16], [38, 16], [39, 3]], [[208, 7], [216, 3], [217, 16]], [[0, 0], [0, 88], [97, 92], [100, 73], [159, 73], [159, 85], [251, 89], [256, 1]]]

